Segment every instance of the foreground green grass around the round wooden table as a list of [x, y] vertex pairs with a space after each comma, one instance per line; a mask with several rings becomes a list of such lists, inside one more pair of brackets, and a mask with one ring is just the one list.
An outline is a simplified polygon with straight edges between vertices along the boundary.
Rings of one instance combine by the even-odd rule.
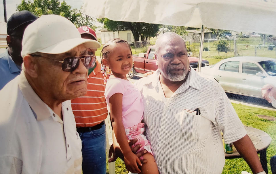
[[[260, 129], [269, 134], [269, 136], [271, 137], [272, 141], [269, 148], [267, 149], [267, 166], [268, 172], [269, 174], [271, 174], [269, 160], [271, 156], [276, 154], [276, 121], [268, 121], [266, 119], [261, 119], [256, 115], [268, 115], [276, 117], [276, 112], [235, 103], [232, 103], [232, 105], [244, 125]], [[127, 174], [125, 165], [119, 159], [117, 159], [115, 166], [116, 174]], [[247, 163], [243, 160], [243, 158], [225, 160], [225, 166], [222, 171], [223, 174], [240, 174], [241, 171], [248, 171], [249, 173], [252, 173], [252, 171], [248, 167]]]

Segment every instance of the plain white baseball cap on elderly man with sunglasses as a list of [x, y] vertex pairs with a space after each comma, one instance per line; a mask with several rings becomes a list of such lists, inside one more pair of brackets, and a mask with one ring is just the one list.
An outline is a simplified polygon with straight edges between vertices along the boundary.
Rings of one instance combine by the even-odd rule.
[[61, 54], [85, 44], [85, 47], [98, 49], [100, 42], [81, 38], [75, 25], [58, 15], [43, 15], [30, 24], [23, 35], [21, 56], [40, 52]]

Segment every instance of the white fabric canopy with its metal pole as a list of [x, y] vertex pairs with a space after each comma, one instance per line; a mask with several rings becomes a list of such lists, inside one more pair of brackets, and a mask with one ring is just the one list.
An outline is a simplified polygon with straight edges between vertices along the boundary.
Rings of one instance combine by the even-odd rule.
[[201, 28], [204, 26], [276, 35], [275, 0], [85, 0], [83, 13], [93, 18]]

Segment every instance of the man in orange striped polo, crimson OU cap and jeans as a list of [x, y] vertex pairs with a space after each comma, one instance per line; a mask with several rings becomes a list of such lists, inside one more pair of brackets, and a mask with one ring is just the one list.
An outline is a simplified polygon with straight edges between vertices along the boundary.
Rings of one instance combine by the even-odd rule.
[[[94, 30], [87, 26], [78, 28], [81, 37], [97, 40]], [[97, 49], [89, 49], [89, 54], [95, 54]], [[106, 173], [106, 134], [104, 119], [107, 117], [104, 97], [104, 77], [101, 73], [101, 63], [96, 59], [96, 65], [88, 71], [87, 94], [71, 100], [75, 115], [77, 132], [82, 141], [83, 174]]]

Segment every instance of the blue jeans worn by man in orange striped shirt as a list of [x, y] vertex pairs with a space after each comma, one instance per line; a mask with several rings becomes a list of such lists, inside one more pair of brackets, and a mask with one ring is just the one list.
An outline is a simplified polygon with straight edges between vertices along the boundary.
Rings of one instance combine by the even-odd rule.
[[83, 174], [106, 174], [105, 124], [90, 132], [79, 132]]

